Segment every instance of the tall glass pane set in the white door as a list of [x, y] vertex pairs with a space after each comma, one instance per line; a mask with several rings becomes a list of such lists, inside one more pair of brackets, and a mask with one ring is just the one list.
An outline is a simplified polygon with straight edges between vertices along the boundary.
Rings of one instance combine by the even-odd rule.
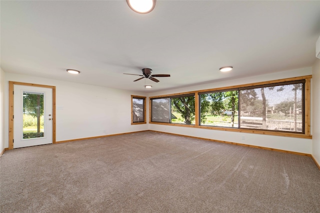
[[43, 137], [43, 97], [43, 93], [23, 92], [23, 139]]

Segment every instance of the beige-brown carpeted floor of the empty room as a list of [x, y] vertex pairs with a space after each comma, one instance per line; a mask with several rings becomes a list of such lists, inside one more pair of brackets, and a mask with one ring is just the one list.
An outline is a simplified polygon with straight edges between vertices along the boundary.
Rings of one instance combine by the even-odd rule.
[[6, 151], [1, 213], [319, 213], [310, 157], [139, 132]]

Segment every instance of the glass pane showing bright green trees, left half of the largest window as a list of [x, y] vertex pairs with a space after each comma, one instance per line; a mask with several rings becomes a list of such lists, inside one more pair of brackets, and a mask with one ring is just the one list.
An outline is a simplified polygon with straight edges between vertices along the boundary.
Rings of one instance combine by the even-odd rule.
[[201, 94], [200, 125], [238, 127], [238, 91]]

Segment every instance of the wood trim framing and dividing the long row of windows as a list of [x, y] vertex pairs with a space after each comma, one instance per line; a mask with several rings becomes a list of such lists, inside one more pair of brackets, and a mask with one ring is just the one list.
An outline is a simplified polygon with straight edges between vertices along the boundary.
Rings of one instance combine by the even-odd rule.
[[[151, 121], [151, 119], [150, 119], [151, 99], [194, 93], [195, 97], [197, 97], [197, 98], [195, 98], [195, 118], [194, 118], [195, 125], [160, 123], [160, 122], [149, 122], [149, 124], [159, 124], [159, 125], [167, 125], [167, 126], [180, 126], [180, 127], [188, 127], [188, 128], [201, 128], [201, 129], [211, 129], [211, 130], [219, 130], [219, 131], [230, 131], [230, 132], [253, 133], [253, 134], [262, 134], [262, 135], [274, 135], [274, 136], [312, 139], [312, 135], [310, 134], [311, 78], [312, 78], [312, 75], [305, 75], [305, 76], [284, 78], [284, 79], [271, 80], [271, 81], [262, 81], [262, 82], [257, 82], [257, 83], [249, 83], [249, 84], [226, 86], [226, 87], [219, 87], [219, 88], [212, 88], [212, 89], [205, 89], [205, 90], [198, 90], [198, 91], [190, 91], [190, 92], [174, 93], [174, 94], [168, 94], [168, 95], [152, 96], [152, 97], [149, 97], [149, 121]], [[265, 85], [265, 84], [281, 83], [281, 82], [296, 81], [296, 80], [303, 80], [303, 79], [305, 79], [305, 83], [304, 83], [304, 134], [289, 133], [289, 132], [288, 133], [286, 133], [286, 132], [285, 133], [284, 132], [271, 132], [271, 131], [265, 131], [265, 130], [255, 130], [255, 129], [211, 127], [211, 126], [199, 125], [199, 99], [198, 99], [199, 93], [206, 93], [206, 92], [218, 91], [218, 90], [235, 89], [235, 88], [240, 88], [240, 87], [259, 86], [259, 85]]]

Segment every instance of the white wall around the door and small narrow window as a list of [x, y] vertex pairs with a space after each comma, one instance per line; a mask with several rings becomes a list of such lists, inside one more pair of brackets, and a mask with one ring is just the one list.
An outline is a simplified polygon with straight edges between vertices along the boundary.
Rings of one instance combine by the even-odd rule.
[[[56, 141], [147, 130], [131, 125], [131, 95], [145, 94], [5, 72], [5, 132], [8, 132], [8, 81], [56, 87]], [[8, 147], [8, 134], [4, 136]]]

